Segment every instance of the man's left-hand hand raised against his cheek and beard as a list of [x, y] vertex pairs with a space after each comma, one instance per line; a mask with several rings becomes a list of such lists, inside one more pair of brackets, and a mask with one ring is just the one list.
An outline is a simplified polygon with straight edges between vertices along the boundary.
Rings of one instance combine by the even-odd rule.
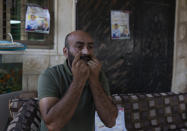
[[79, 86], [84, 86], [90, 75], [88, 65], [80, 59], [81, 53], [77, 54], [72, 63], [73, 82]]

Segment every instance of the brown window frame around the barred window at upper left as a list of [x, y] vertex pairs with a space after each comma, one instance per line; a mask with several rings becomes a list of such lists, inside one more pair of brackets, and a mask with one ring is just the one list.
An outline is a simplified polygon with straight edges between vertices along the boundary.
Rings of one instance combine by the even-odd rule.
[[[6, 1], [6, 39], [3, 39], [3, 35], [5, 32], [3, 32], [4, 28], [4, 15], [3, 15], [3, 4], [0, 4], [0, 40], [10, 40], [10, 37], [8, 36], [8, 32], [10, 32], [10, 7], [8, 7], [7, 2], [10, 2], [10, 0], [0, 0], [0, 3], [4, 3]], [[48, 0], [48, 9], [50, 13], [50, 33], [47, 35], [44, 35], [44, 41], [37, 41], [37, 40], [26, 40], [27, 33], [25, 32], [25, 14], [26, 14], [26, 3], [27, 0], [20, 0], [21, 1], [21, 8], [20, 15], [21, 15], [21, 24], [20, 24], [20, 30], [21, 30], [21, 39], [22, 40], [14, 40], [15, 42], [23, 43], [27, 46], [28, 49], [54, 49], [54, 37], [55, 37], [55, 1], [54, 0]], [[24, 18], [24, 19], [22, 19]], [[25, 37], [25, 38], [23, 38]]]

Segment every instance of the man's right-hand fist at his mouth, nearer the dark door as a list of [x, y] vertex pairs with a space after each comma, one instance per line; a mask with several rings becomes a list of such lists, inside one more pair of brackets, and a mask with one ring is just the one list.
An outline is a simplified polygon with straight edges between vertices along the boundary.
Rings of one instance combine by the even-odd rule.
[[88, 66], [90, 68], [89, 80], [99, 80], [101, 63], [96, 59], [95, 56], [92, 57], [92, 60], [88, 61]]

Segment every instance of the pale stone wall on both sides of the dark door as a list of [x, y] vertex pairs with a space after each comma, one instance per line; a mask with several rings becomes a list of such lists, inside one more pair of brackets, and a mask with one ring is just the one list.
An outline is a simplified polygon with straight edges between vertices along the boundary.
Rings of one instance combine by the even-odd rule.
[[[172, 91], [187, 91], [187, 0], [176, 0], [175, 49]], [[2, 62], [23, 62], [23, 90], [36, 90], [37, 79], [48, 66], [63, 63], [64, 37], [75, 29], [75, 6], [73, 0], [56, 0], [55, 47], [53, 50], [25, 52], [0, 52]], [[63, 23], [63, 24], [62, 24]]]

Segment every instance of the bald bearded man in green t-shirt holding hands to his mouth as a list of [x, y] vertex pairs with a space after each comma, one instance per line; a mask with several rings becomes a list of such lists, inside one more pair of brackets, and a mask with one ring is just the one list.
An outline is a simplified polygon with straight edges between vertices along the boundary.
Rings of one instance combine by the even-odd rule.
[[93, 39], [86, 32], [68, 34], [63, 49], [65, 63], [48, 68], [40, 75], [42, 131], [47, 128], [93, 131], [95, 110], [106, 126], [115, 125], [117, 108], [112, 103], [101, 64], [94, 56], [93, 45]]

